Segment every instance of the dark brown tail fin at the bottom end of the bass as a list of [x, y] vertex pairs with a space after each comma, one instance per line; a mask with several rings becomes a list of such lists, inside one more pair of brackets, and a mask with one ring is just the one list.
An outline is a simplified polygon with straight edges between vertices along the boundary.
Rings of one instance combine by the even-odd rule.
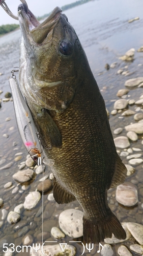
[[112, 233], [120, 240], [126, 239], [124, 228], [112, 212], [101, 221], [89, 221], [83, 217], [83, 237], [86, 243], [98, 244], [103, 242], [105, 238], [111, 238]]

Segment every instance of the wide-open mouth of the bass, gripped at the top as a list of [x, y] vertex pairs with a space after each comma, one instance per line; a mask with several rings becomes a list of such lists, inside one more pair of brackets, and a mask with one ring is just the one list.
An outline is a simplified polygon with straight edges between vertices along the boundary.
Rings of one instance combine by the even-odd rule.
[[[61, 15], [62, 9], [60, 7], [55, 7], [44, 22], [40, 23], [28, 9], [26, 4], [21, 4], [18, 7], [18, 19], [20, 25], [24, 26], [25, 33], [29, 34], [37, 44], [42, 44], [44, 42], [48, 33], [58, 22]], [[23, 26], [21, 26], [21, 28], [23, 28]]]

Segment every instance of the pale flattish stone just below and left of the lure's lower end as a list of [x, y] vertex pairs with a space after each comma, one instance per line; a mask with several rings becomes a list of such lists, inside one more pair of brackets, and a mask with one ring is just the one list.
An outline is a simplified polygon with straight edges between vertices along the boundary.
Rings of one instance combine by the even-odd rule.
[[18, 180], [20, 183], [23, 183], [23, 182], [26, 182], [28, 180], [31, 180], [33, 174], [34, 174], [34, 171], [32, 169], [26, 169], [26, 170], [19, 170], [12, 177], [15, 180]]

